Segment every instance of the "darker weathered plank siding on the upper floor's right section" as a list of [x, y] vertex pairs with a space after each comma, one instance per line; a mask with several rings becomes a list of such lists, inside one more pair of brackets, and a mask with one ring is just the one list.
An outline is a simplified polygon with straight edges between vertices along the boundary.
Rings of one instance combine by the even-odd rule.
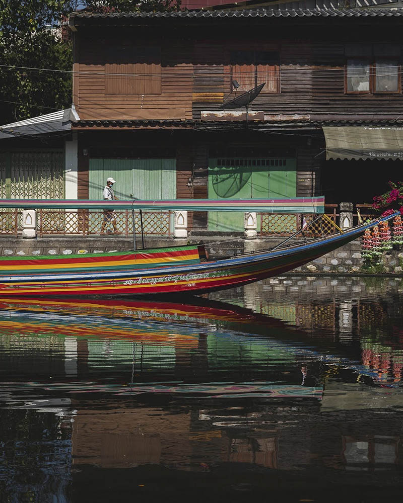
[[[254, 39], [251, 47], [259, 45], [262, 50], [273, 50], [276, 44]], [[387, 39], [385, 39], [387, 40]], [[357, 41], [358, 42], [358, 41]], [[347, 42], [346, 43], [350, 43]], [[361, 41], [362, 44], [373, 42]], [[263, 111], [265, 118], [273, 116], [309, 116], [311, 120], [355, 119], [396, 117], [396, 110], [403, 112], [403, 95], [347, 94], [345, 93], [345, 43], [323, 40], [282, 39], [279, 45], [280, 89], [278, 93], [262, 92], [252, 102], [251, 110]], [[400, 42], [400, 51], [403, 46]], [[217, 44], [212, 41], [212, 52]], [[228, 45], [227, 45], [228, 47]], [[227, 54], [228, 57], [228, 54]], [[401, 56], [399, 63], [402, 63]], [[230, 65], [226, 50], [222, 51], [215, 66], [195, 65], [197, 89], [206, 95], [193, 94], [193, 118], [201, 111], [219, 110], [224, 93], [224, 102], [232, 99], [230, 92]], [[212, 85], [215, 82], [215, 87]], [[208, 91], [208, 93], [207, 93]], [[210, 99], [209, 99], [210, 97]]]

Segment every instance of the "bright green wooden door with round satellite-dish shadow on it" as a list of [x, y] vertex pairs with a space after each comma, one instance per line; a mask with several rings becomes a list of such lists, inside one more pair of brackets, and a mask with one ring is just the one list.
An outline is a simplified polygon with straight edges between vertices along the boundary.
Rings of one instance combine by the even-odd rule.
[[[210, 199], [279, 199], [296, 195], [294, 158], [209, 160]], [[241, 232], [243, 229], [242, 212], [209, 212], [209, 230]]]

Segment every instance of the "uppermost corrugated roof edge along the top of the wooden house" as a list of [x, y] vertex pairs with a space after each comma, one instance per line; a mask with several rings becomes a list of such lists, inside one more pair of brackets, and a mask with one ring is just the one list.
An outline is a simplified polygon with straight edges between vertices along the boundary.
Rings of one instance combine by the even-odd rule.
[[141, 19], [141, 18], [311, 18], [311, 17], [400, 17], [403, 9], [244, 9], [223, 11], [180, 12], [73, 12], [70, 18], [77, 19]]

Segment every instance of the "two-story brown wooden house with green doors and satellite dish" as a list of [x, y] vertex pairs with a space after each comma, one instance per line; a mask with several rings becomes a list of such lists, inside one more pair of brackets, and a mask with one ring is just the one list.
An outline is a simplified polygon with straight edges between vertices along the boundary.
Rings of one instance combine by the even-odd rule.
[[[84, 11], [69, 26], [70, 197], [101, 198], [111, 176], [124, 198], [365, 203], [401, 179], [403, 9]], [[248, 110], [226, 106], [261, 83]]]

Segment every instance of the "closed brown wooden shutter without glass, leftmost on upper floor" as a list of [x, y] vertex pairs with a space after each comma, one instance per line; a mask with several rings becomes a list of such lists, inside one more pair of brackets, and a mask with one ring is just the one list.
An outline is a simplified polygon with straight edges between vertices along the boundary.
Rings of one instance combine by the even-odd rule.
[[115, 47], [105, 64], [105, 94], [161, 94], [161, 48]]

